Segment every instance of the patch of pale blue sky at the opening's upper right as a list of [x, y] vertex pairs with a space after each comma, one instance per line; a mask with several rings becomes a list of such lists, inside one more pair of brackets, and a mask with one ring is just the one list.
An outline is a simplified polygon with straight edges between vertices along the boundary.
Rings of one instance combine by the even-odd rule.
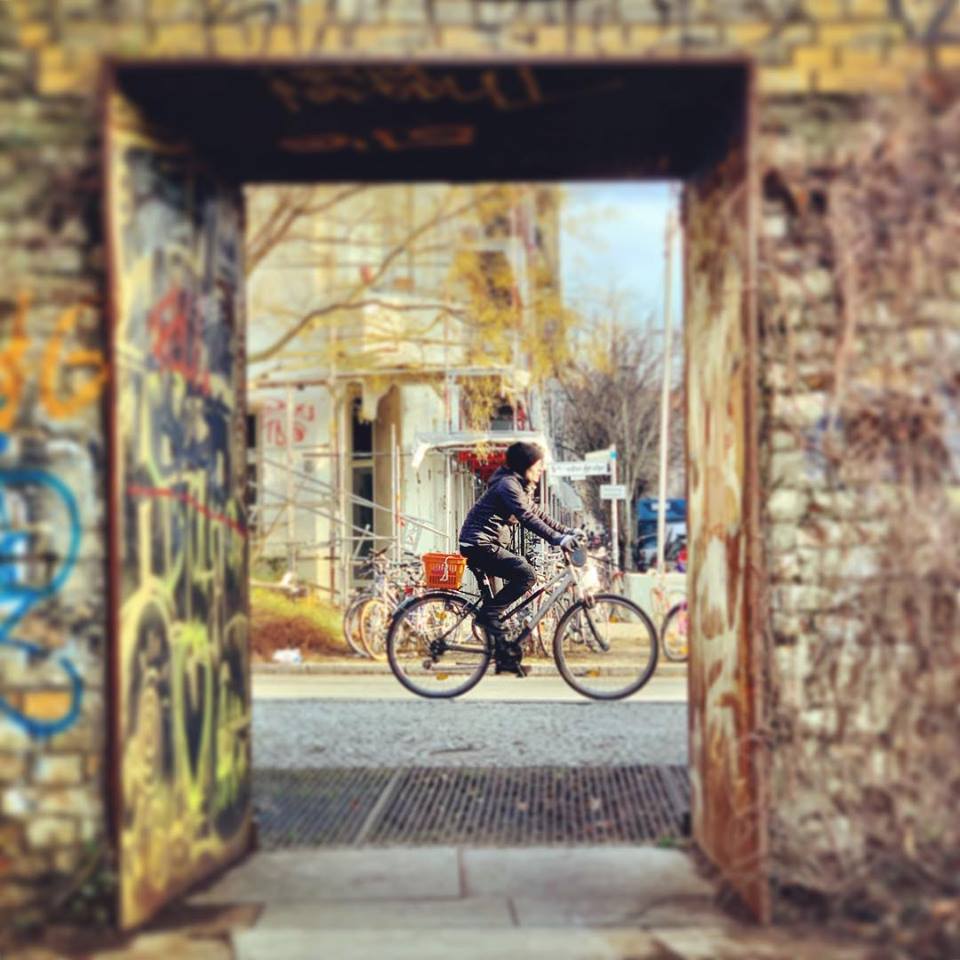
[[[616, 297], [625, 323], [663, 323], [664, 236], [679, 193], [667, 182], [564, 185], [560, 270], [565, 299], [587, 313]], [[681, 241], [673, 256], [673, 322], [683, 310]]]

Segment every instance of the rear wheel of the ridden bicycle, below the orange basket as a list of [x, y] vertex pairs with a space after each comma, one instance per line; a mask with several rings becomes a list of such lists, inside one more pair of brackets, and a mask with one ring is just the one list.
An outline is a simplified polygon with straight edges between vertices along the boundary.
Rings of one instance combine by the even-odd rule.
[[400, 607], [387, 632], [394, 676], [420, 697], [458, 697], [487, 672], [490, 650], [474, 634], [473, 609], [455, 593], [427, 593]]

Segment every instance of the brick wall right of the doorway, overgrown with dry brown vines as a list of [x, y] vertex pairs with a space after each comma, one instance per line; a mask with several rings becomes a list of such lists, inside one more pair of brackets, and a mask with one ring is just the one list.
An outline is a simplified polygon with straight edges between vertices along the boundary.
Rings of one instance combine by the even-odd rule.
[[773, 880], [960, 956], [960, 101], [859, 110], [846, 162], [765, 178]]

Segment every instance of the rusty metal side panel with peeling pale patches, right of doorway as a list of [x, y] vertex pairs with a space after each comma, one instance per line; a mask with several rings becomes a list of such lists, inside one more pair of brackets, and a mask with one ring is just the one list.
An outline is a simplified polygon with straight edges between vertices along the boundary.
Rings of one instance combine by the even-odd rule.
[[694, 838], [761, 919], [750, 189], [744, 154], [687, 187], [685, 316]]

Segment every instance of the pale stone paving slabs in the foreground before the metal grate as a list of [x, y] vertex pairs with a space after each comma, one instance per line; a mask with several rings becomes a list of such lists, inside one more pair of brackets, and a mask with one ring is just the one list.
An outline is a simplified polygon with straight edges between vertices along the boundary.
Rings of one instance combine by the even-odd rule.
[[[259, 853], [195, 894], [181, 925], [98, 960], [867, 960], [811, 928], [716, 906], [677, 850], [316, 849]], [[190, 917], [193, 917], [191, 920]], [[38, 955], [39, 956], [39, 955]]]

